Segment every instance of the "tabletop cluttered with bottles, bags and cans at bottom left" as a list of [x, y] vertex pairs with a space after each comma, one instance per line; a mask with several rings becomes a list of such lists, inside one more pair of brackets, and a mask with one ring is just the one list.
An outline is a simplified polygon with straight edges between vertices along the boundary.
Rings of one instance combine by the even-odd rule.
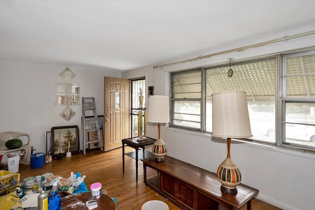
[[91, 185], [85, 176], [71, 172], [69, 178], [52, 173], [20, 180], [20, 174], [0, 170], [0, 203], [5, 210], [116, 210], [116, 200], [101, 190], [101, 183]]

